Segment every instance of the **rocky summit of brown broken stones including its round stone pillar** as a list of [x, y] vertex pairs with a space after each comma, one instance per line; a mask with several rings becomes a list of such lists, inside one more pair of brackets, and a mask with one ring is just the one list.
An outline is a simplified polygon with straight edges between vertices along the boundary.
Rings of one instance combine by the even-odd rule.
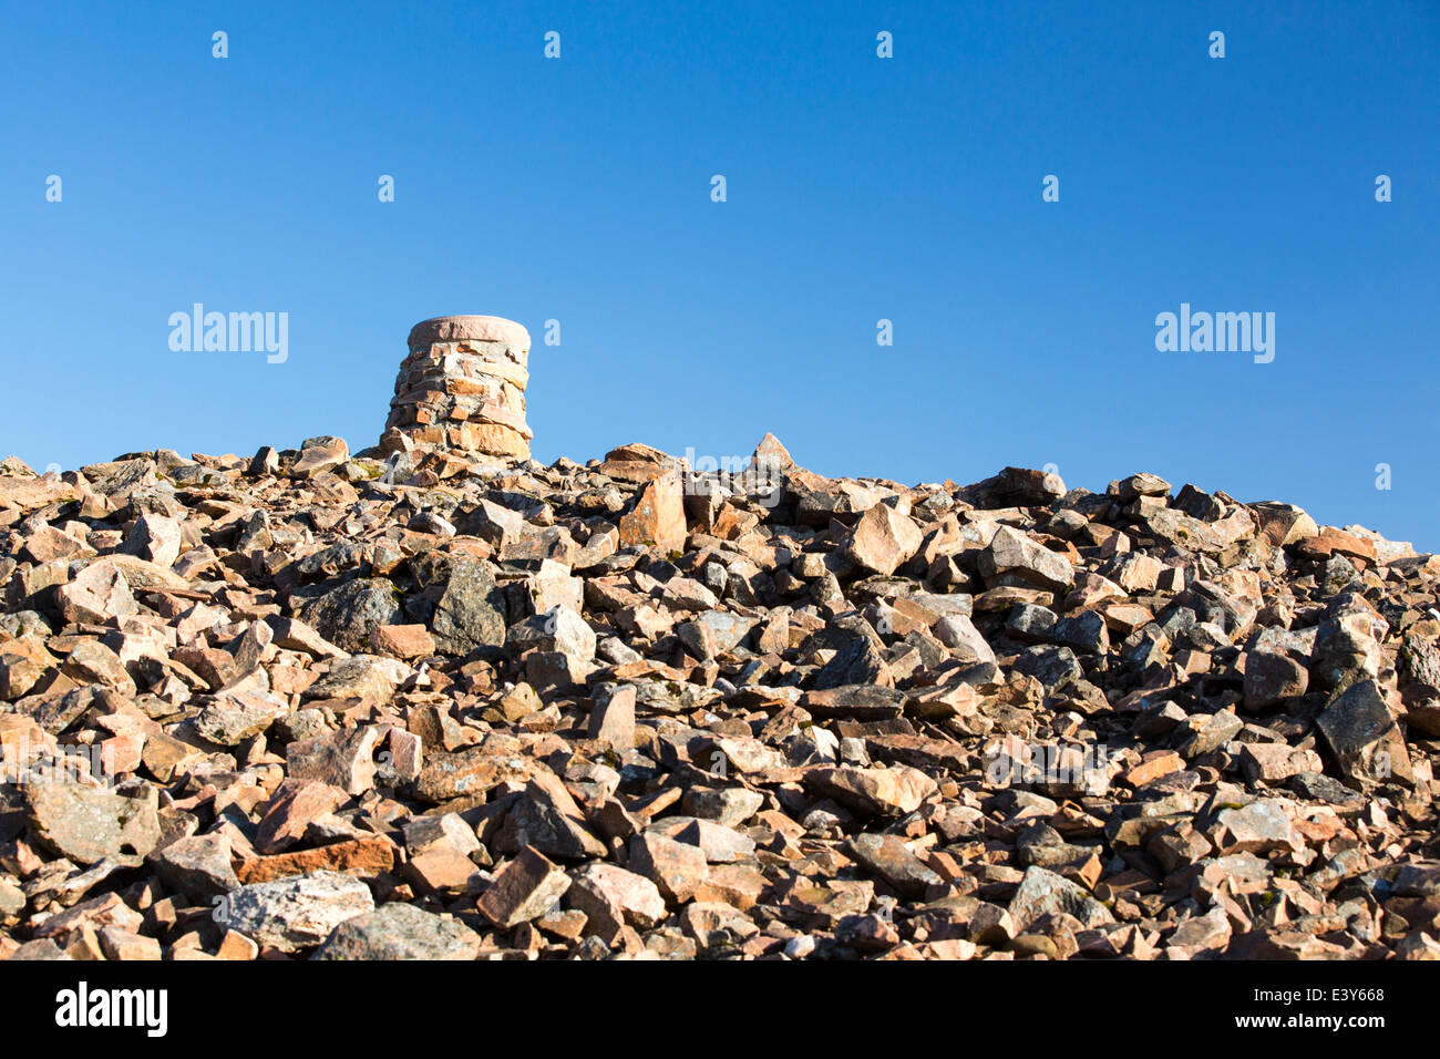
[[0, 464], [0, 957], [1440, 955], [1440, 556], [541, 465], [528, 336], [446, 320], [369, 450]]

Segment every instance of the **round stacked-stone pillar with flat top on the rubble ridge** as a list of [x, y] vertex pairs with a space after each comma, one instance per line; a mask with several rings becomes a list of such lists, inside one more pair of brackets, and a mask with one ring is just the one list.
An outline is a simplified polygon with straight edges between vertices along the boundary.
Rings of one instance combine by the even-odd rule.
[[412, 327], [409, 349], [395, 380], [383, 451], [530, 457], [524, 327], [495, 316], [442, 316]]

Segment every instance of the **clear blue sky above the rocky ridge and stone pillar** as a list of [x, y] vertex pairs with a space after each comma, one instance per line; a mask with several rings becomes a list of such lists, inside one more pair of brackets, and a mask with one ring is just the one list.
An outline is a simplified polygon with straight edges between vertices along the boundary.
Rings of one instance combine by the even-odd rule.
[[[10, 3], [0, 33], [0, 450], [32, 465], [360, 448], [409, 327], [490, 313], [534, 339], [544, 461], [773, 431], [827, 474], [1149, 470], [1440, 549], [1440, 3]], [[288, 313], [288, 362], [171, 352], [196, 301]], [[1273, 311], [1274, 362], [1156, 352], [1181, 303]]]

